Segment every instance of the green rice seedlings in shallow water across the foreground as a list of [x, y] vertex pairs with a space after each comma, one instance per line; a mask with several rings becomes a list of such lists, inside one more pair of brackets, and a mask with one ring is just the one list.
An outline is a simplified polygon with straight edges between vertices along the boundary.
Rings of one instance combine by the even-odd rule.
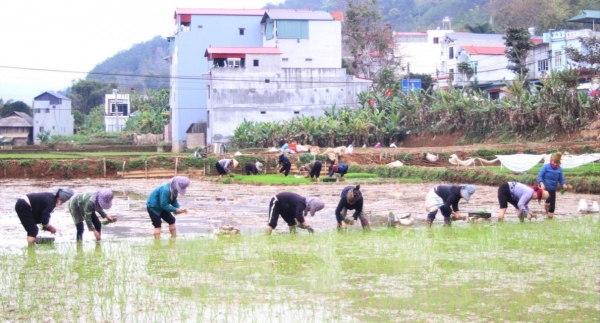
[[597, 216], [0, 250], [1, 321], [592, 322]]

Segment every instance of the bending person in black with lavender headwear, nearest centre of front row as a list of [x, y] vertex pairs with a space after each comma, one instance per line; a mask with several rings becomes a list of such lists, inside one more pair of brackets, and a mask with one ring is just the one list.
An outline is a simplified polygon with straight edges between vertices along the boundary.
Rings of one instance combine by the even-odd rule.
[[304, 217], [308, 213], [314, 216], [324, 206], [325, 204], [317, 198], [305, 198], [291, 192], [279, 193], [269, 202], [269, 224], [266, 233], [271, 234], [273, 229], [277, 227], [277, 220], [279, 220], [280, 215], [288, 224], [290, 233], [296, 233], [296, 226], [314, 233], [314, 230], [308, 225]]

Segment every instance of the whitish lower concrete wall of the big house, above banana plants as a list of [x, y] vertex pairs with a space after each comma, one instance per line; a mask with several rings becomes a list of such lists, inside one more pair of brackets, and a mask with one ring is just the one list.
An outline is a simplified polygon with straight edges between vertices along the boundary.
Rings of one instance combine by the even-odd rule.
[[[280, 71], [220, 68], [213, 69], [211, 74], [208, 143], [229, 141], [244, 119], [289, 120], [302, 115], [322, 116], [323, 108], [334, 104], [356, 107], [357, 94], [371, 84], [347, 76], [341, 68]], [[270, 82], [265, 83], [265, 79]]]

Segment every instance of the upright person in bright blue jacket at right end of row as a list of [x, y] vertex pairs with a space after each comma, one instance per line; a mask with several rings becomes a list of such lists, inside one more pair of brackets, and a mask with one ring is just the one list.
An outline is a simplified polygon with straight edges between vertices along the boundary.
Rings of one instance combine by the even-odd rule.
[[554, 218], [554, 208], [556, 207], [556, 189], [558, 188], [558, 184], [565, 189], [570, 188], [565, 180], [562, 167], [560, 167], [561, 157], [562, 154], [560, 153], [555, 153], [552, 155], [550, 162], [548, 164], [544, 164], [538, 173], [537, 181], [540, 188], [548, 191], [548, 199], [546, 199], [546, 204], [544, 205], [548, 219]]

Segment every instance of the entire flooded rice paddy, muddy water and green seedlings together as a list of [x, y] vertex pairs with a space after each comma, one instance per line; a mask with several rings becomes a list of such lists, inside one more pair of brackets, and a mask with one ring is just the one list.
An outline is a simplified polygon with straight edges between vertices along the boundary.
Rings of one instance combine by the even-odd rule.
[[[372, 230], [338, 232], [332, 217], [344, 183], [282, 188], [193, 181], [181, 200], [191, 212], [178, 217], [180, 236], [155, 240], [144, 201], [162, 182], [3, 182], [0, 321], [600, 320], [600, 216], [575, 212], [580, 198], [594, 195], [560, 195], [552, 221], [519, 223], [509, 210], [501, 224], [444, 227], [437, 219], [427, 228], [421, 209], [432, 183], [365, 183]], [[56, 242], [27, 248], [11, 210], [18, 194], [65, 184], [76, 193], [111, 187], [118, 200], [109, 214], [119, 221], [105, 227], [101, 242], [86, 230], [84, 242], [76, 243], [70, 215], [60, 208], [52, 217]], [[268, 201], [283, 190], [325, 201], [308, 218], [316, 234], [287, 234], [283, 221], [273, 235], [262, 233]], [[461, 210], [497, 213], [495, 190], [479, 186]], [[412, 212], [417, 222], [387, 228], [388, 211]], [[242, 234], [212, 234], [221, 224]]]

